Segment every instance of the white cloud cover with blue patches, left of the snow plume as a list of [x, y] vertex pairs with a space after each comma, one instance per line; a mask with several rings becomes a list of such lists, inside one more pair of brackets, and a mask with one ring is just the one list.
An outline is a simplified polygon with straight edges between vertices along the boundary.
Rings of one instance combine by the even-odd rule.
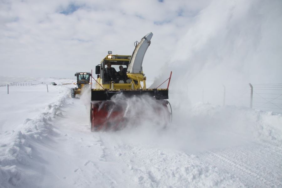
[[[201, 4], [149, 0], [30, 0], [2, 2], [1, 7], [1, 74], [34, 76], [90, 70], [108, 50], [131, 54], [134, 41], [151, 31], [154, 39], [144, 70], [152, 74], [159, 66], [155, 62], [167, 59], [164, 54], [183, 33], [191, 13], [201, 10]], [[184, 16], [178, 16], [180, 10]]]

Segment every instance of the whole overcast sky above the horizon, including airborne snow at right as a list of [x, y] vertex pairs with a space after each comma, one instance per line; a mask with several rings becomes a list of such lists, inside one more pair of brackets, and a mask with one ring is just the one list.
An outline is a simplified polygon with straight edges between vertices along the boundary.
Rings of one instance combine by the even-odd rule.
[[1, 75], [74, 77], [153, 38], [148, 80], [281, 82], [281, 0], [0, 2]]

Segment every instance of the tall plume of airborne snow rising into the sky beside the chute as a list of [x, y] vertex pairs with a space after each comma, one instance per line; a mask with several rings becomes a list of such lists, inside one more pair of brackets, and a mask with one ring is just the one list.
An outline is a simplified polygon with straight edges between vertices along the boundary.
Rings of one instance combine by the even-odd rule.
[[222, 85], [280, 82], [281, 8], [279, 0], [213, 1], [194, 18], [151, 87], [172, 70], [170, 91], [187, 94], [193, 104], [222, 104]]

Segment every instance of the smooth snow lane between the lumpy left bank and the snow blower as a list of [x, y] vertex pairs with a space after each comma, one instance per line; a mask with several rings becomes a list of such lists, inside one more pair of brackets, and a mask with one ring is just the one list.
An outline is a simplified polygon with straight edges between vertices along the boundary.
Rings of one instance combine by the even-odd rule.
[[[106, 133], [90, 131], [89, 110], [82, 100], [68, 99], [72, 105], [65, 107], [66, 117], [56, 122], [61, 135], [57, 148], [61, 151], [62, 158], [70, 162], [72, 170], [62, 169], [67, 179], [71, 179], [75, 187], [118, 187], [123, 185], [118, 178], [119, 168], [114, 161], [108, 160], [107, 148], [101, 136]], [[62, 160], [64, 160], [62, 159]]]

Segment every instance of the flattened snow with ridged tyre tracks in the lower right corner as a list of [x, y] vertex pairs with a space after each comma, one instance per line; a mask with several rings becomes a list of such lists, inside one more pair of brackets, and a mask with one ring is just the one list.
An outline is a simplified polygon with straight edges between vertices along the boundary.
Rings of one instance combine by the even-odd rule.
[[[260, 146], [261, 149], [263, 148]], [[280, 168], [272, 169], [268, 163], [279, 163], [279, 160], [281, 163], [281, 159], [275, 156], [265, 158], [265, 155], [259, 155], [260, 150], [239, 147], [232, 150], [207, 151], [200, 158], [223, 171], [237, 175], [247, 187], [281, 187]]]

